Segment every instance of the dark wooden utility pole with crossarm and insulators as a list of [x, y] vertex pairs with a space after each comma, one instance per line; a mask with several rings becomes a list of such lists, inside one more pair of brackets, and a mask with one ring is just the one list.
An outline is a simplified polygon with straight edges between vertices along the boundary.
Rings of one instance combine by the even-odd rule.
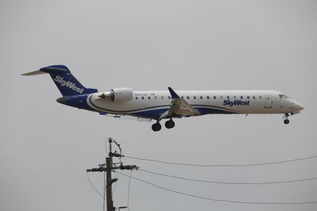
[[[116, 182], [118, 179], [112, 179], [111, 172], [114, 171], [114, 169], [120, 169], [120, 170], [132, 170], [136, 169], [138, 170], [138, 166], [136, 165], [123, 165], [122, 162], [120, 162], [120, 166], [116, 166], [118, 163], [113, 163], [112, 158], [121, 158], [121, 148], [120, 145], [114, 141], [112, 138], [108, 138], [109, 142], [109, 155], [106, 158], [105, 164], [99, 164], [99, 168], [91, 168], [87, 169], [87, 172], [103, 172], [106, 171], [106, 201], [107, 201], [107, 211], [115, 211], [115, 207], [113, 207], [113, 200], [112, 200], [112, 183]], [[120, 153], [118, 154], [116, 151], [112, 153], [112, 143], [115, 143], [116, 146], [120, 149]], [[114, 165], [114, 167], [113, 167]], [[106, 166], [106, 167], [105, 167]], [[105, 188], [105, 187], [104, 187]], [[123, 209], [127, 207], [119, 207], [119, 209]]]

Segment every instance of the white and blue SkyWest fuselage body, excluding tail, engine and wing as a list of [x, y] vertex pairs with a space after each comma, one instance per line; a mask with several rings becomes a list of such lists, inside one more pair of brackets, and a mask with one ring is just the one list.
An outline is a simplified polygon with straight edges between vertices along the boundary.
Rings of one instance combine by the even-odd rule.
[[[292, 113], [303, 109], [296, 101], [272, 90], [199, 90], [175, 91], [200, 114], [269, 114]], [[112, 102], [101, 99], [103, 92], [88, 96], [87, 103], [99, 112], [126, 114], [142, 118], [158, 119], [172, 106], [168, 91], [133, 91], [133, 99]]]

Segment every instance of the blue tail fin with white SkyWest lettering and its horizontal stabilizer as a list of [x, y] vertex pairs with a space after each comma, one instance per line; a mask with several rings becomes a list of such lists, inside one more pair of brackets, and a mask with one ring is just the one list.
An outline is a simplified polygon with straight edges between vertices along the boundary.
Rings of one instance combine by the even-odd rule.
[[23, 75], [38, 75], [43, 73], [50, 74], [62, 96], [84, 95], [98, 92], [97, 89], [89, 89], [84, 87], [64, 65], [43, 67], [38, 71]]

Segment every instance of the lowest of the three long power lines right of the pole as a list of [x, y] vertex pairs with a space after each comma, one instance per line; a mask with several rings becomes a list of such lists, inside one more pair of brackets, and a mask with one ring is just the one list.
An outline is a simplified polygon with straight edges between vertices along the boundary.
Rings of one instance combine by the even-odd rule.
[[[122, 174], [122, 175], [124, 175], [124, 176], [129, 177], [128, 175], [123, 174], [123, 173], [121, 173], [121, 172], [118, 172], [118, 173], [119, 173], [119, 174]], [[163, 189], [163, 190], [166, 190], [166, 191], [173, 192], [173, 193], [178, 193], [178, 194], [182, 194], [182, 195], [186, 195], [186, 196], [191, 196], [191, 197], [194, 197], [194, 198], [205, 199], [205, 200], [210, 200], [210, 201], [217, 201], [217, 202], [230, 202], [230, 203], [239, 203], [239, 204], [266, 204], [266, 205], [299, 205], [299, 204], [313, 204], [313, 203], [317, 203], [317, 202], [299, 202], [299, 203], [238, 202], [238, 201], [231, 201], [231, 200], [210, 199], [210, 198], [205, 198], [205, 197], [200, 197], [200, 196], [196, 196], [196, 195], [191, 195], [191, 194], [182, 193], [182, 192], [179, 192], [179, 191], [173, 191], [173, 190], [160, 187], [160, 186], [155, 185], [155, 184], [153, 184], [153, 183], [146, 182], [146, 181], [144, 181], [144, 180], [141, 180], [141, 179], [138, 179], [138, 178], [135, 178], [135, 177], [132, 177], [132, 176], [131, 176], [131, 178], [136, 179], [136, 180], [141, 181], [141, 182], [144, 182], [144, 183], [147, 183], [147, 184], [149, 184], [149, 185], [155, 186], [155, 187], [157, 187], [157, 188], [160, 188], [160, 189]]]

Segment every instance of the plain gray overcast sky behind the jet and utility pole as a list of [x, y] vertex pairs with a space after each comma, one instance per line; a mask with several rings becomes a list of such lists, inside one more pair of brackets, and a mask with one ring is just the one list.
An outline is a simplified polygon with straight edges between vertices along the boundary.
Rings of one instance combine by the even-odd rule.
[[[1, 211], [102, 210], [86, 168], [123, 154], [173, 162], [240, 164], [317, 155], [315, 0], [1, 0]], [[48, 75], [20, 74], [64, 64], [85, 86], [132, 89], [271, 89], [305, 109], [282, 115], [176, 119], [174, 129], [63, 106]], [[224, 182], [317, 177], [317, 159], [253, 167], [181, 167], [123, 158], [150, 171]], [[124, 172], [123, 172], [124, 173]], [[129, 173], [126, 171], [125, 173]], [[245, 202], [317, 201], [317, 181], [262, 186], [181, 181], [133, 172], [176, 191]], [[103, 174], [92, 173], [103, 191]], [[127, 203], [119, 176], [114, 205]], [[311, 205], [204, 201], [131, 179], [130, 211], [316, 211]]]

